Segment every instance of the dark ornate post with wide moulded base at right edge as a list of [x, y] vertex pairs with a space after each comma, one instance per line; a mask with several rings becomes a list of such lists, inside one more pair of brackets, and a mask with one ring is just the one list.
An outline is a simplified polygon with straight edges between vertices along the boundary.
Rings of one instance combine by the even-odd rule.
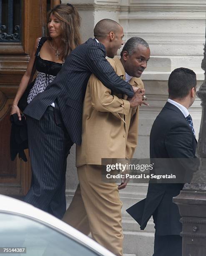
[[206, 255], [206, 45], [201, 65], [205, 79], [197, 96], [201, 99], [202, 119], [196, 155], [200, 166], [190, 184], [174, 197], [182, 216], [183, 256]]

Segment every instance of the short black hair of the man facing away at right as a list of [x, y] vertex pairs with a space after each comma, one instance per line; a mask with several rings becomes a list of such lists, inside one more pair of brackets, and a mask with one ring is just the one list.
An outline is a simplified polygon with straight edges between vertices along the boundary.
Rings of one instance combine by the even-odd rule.
[[186, 97], [193, 87], [196, 88], [196, 84], [196, 74], [193, 70], [183, 67], [174, 69], [168, 79], [169, 98]]

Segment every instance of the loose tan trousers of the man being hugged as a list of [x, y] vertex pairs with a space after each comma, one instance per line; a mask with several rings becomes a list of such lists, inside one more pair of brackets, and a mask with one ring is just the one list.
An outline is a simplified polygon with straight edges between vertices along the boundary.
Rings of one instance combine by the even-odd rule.
[[116, 183], [101, 179], [100, 165], [77, 167], [79, 185], [63, 221], [80, 230], [102, 246], [122, 256], [122, 202]]

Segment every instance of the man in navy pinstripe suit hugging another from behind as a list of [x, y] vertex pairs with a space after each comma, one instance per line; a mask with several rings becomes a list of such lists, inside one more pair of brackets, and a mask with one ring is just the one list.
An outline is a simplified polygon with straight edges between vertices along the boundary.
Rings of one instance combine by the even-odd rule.
[[[133, 87], [118, 77], [106, 60], [106, 56], [113, 58], [123, 44], [123, 28], [116, 21], [104, 19], [96, 24], [94, 35], [101, 35], [99, 41], [89, 38], [74, 49], [53, 82], [24, 110], [31, 119], [29, 136], [37, 141], [30, 145], [33, 178], [25, 201], [58, 218], [66, 209], [68, 152], [73, 143], [81, 143], [82, 106], [90, 75], [95, 74], [114, 92], [134, 95]], [[38, 143], [42, 131], [45, 136]]]

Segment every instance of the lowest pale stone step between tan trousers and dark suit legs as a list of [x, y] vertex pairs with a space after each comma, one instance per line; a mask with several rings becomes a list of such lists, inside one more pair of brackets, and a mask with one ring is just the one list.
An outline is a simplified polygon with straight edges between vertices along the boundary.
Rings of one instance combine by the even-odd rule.
[[136, 256], [152, 256], [154, 233], [124, 231], [123, 251]]

